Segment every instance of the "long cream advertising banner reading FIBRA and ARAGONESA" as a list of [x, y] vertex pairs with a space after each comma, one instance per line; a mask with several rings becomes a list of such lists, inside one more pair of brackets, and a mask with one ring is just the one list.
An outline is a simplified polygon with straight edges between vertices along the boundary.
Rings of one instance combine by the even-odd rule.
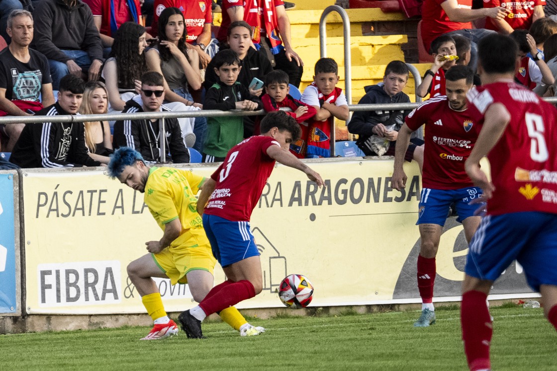
[[[326, 186], [277, 165], [253, 212], [263, 292], [238, 308], [282, 306], [276, 293], [287, 274], [314, 285], [311, 306], [418, 303], [416, 259], [421, 180], [405, 164], [406, 189], [390, 187], [392, 160], [310, 162]], [[215, 166], [188, 166], [209, 176]], [[143, 313], [126, 266], [162, 236], [143, 194], [102, 171], [25, 171], [28, 313]], [[435, 295], [460, 295], [467, 244], [449, 218], [437, 256]], [[224, 279], [215, 272], [215, 283]], [[193, 306], [187, 285], [157, 279], [167, 311]], [[519, 266], [495, 283], [495, 294], [531, 295]]]

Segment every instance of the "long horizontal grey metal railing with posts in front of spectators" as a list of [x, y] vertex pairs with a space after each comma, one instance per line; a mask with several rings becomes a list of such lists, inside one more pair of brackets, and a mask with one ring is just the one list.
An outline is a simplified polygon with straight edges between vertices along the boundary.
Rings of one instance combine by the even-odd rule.
[[[543, 98], [544, 101], [556, 104], [557, 97]], [[419, 103], [387, 103], [377, 105], [348, 105], [351, 112], [357, 111], [394, 111], [394, 110], [413, 110]], [[282, 111], [291, 111], [290, 108], [281, 108]], [[59, 115], [59, 116], [3, 116], [0, 117], [0, 124], [3, 123], [43, 123], [43, 122], [87, 122], [87, 121], [118, 121], [118, 120], [148, 120], [150, 118], [162, 118], [160, 130], [164, 132], [165, 118], [178, 117], [223, 117], [223, 116], [258, 116], [266, 115], [263, 110], [259, 111], [219, 111], [219, 110], [199, 110], [199, 111], [180, 111], [180, 112], [136, 112], [136, 113], [105, 113], [102, 115]], [[334, 128], [332, 130], [334, 132]], [[164, 142], [166, 136], [160, 136]], [[331, 157], [335, 156], [334, 134], [331, 132]], [[161, 143], [164, 147], [164, 143]], [[163, 151], [162, 151], [163, 152]], [[162, 161], [166, 160], [164, 155]]]

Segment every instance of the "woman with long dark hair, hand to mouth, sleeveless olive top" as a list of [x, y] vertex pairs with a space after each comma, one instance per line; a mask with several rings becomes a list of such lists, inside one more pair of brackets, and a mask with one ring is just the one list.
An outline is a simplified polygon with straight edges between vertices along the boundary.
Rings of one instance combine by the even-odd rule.
[[[193, 90], [201, 88], [199, 55], [195, 49], [185, 46], [187, 31], [184, 14], [178, 8], [166, 8], [159, 16], [159, 44], [149, 49], [146, 62], [149, 71], [159, 72], [164, 77], [164, 97], [168, 102], [179, 102], [189, 110], [199, 110], [203, 106], [193, 101], [188, 85]], [[170, 105], [167, 105], [170, 107]], [[170, 108], [173, 111], [174, 108]], [[184, 127], [182, 133], [193, 130], [196, 136], [194, 149], [203, 152], [203, 142], [207, 132], [207, 119], [197, 117], [193, 127]]]

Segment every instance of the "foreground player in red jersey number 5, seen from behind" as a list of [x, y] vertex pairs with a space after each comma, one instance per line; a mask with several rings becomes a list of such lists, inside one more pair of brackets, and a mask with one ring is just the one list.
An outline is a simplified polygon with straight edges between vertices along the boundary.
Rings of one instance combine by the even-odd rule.
[[[514, 82], [517, 54], [508, 36], [482, 39], [482, 86], [468, 93], [469, 110], [482, 129], [465, 168], [487, 199], [462, 285], [462, 338], [471, 370], [491, 368], [486, 298], [513, 260], [541, 293], [545, 316], [557, 328], [557, 110]], [[480, 169], [486, 155], [492, 181]]]

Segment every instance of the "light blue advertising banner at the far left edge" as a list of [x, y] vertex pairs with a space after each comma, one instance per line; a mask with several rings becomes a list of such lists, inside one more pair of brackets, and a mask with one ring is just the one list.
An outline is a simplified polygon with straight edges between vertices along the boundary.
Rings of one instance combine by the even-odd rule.
[[0, 174], [0, 314], [17, 311], [14, 176], [17, 173]]

